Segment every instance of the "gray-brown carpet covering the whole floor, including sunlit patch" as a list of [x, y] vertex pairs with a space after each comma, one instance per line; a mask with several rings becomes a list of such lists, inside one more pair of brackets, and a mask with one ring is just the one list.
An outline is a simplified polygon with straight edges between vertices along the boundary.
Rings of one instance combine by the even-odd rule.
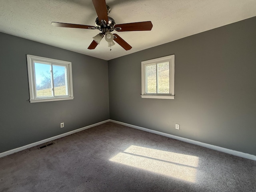
[[111, 122], [53, 143], [0, 158], [0, 191], [256, 192], [256, 161]]

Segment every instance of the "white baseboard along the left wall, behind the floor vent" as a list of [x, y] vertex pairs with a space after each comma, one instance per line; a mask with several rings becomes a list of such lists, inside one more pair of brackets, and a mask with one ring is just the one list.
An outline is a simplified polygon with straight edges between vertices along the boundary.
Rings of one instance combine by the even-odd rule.
[[4, 156], [7, 156], [7, 155], [10, 155], [10, 154], [13, 154], [13, 153], [16, 153], [16, 152], [19, 152], [19, 151], [22, 151], [22, 150], [27, 149], [27, 148], [31, 148], [31, 147], [34, 147], [34, 146], [37, 146], [37, 145], [40, 145], [40, 144], [43, 144], [43, 143], [46, 143], [46, 142], [50, 142], [52, 140], [55, 140], [55, 139], [58, 139], [58, 138], [61, 138], [61, 137], [71, 135], [73, 133], [76, 133], [76, 132], [79, 132], [79, 131], [82, 131], [82, 130], [86, 130], [88, 128], [91, 128], [91, 127], [94, 127], [94, 126], [97, 126], [97, 125], [100, 125], [100, 124], [104, 124], [104, 123], [109, 122], [109, 121], [110, 120], [108, 119], [108, 120], [105, 120], [105, 121], [102, 121], [102, 122], [98, 122], [98, 123], [95, 123], [95, 124], [92, 124], [92, 125], [88, 125], [86, 127], [82, 127], [82, 128], [70, 131], [70, 132], [63, 133], [63, 134], [60, 134], [60, 135], [57, 135], [57, 136], [54, 136], [54, 137], [50, 137], [50, 138], [47, 138], [47, 139], [44, 139], [44, 140], [41, 140], [41, 141], [38, 141], [38, 142], [34, 142], [34, 143], [31, 143], [31, 144], [28, 144], [28, 145], [25, 145], [25, 146], [22, 146], [22, 147], [18, 147], [18, 148], [15, 148], [15, 149], [12, 149], [12, 150], [9, 150], [9, 151], [6, 151], [6, 152], [2, 152], [2, 153], [0, 153], [0, 158], [4, 157]]

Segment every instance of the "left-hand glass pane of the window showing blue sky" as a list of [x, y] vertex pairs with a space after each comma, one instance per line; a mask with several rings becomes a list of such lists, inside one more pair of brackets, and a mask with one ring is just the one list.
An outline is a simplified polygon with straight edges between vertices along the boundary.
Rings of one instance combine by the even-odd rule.
[[36, 79], [36, 96], [52, 96], [51, 65], [34, 63]]

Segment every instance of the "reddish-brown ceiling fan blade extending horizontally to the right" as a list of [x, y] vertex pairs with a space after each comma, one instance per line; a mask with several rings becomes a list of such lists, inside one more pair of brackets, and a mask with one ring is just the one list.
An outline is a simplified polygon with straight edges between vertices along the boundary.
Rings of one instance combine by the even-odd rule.
[[125, 24], [117, 24], [114, 28], [121, 28], [120, 30], [116, 29], [116, 31], [150, 31], [153, 27], [151, 21], [143, 21], [136, 23], [125, 23]]

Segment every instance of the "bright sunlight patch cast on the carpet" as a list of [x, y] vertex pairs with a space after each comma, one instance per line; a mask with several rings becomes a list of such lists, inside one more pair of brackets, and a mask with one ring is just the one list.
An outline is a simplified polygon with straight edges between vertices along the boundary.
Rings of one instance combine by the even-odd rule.
[[198, 157], [131, 145], [110, 161], [195, 182]]

